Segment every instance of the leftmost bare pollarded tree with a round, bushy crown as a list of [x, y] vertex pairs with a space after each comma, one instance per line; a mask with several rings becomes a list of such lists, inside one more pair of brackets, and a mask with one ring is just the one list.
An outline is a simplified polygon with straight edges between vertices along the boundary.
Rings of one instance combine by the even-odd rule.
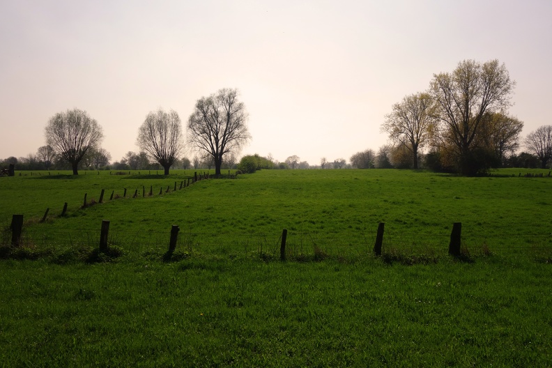
[[78, 175], [79, 162], [103, 138], [102, 127], [85, 111], [79, 109], [59, 112], [49, 119], [45, 128], [46, 142], [71, 164], [73, 175]]

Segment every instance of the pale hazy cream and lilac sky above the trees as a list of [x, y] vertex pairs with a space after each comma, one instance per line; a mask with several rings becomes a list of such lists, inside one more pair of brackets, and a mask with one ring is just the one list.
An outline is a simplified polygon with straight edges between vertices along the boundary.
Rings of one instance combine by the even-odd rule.
[[[259, 153], [309, 164], [377, 151], [385, 114], [459, 61], [504, 63], [522, 135], [552, 124], [552, 1], [0, 0], [0, 159], [84, 109], [121, 160], [158, 107], [236, 88]], [[188, 154], [192, 157], [192, 153]]]

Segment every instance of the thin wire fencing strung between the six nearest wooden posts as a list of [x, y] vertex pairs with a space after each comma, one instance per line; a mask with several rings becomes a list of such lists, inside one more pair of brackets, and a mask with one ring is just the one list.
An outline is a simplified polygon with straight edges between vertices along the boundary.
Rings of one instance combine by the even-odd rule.
[[[130, 254], [162, 254], [169, 250], [171, 233], [155, 231], [109, 231], [109, 246], [120, 247]], [[407, 254], [447, 254], [450, 233], [406, 233], [386, 231], [382, 252]], [[2, 232], [1, 245], [10, 245], [12, 232]], [[289, 231], [286, 236], [286, 254], [291, 257], [365, 256], [374, 251], [376, 232], [343, 231], [301, 232]], [[100, 230], [79, 231], [26, 228], [20, 237], [22, 247], [48, 249], [53, 252], [78, 248], [96, 248], [100, 245]], [[239, 255], [260, 254], [278, 257], [281, 251], [282, 233], [194, 233], [181, 231], [176, 240], [176, 250], [188, 254]], [[512, 254], [516, 252], [552, 252], [551, 233], [464, 233], [461, 247], [470, 254]]]

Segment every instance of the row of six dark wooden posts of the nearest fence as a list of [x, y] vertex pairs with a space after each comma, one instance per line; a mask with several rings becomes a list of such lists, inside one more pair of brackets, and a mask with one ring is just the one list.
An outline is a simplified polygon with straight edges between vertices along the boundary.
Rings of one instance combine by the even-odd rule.
[[[12, 229], [11, 244], [15, 247], [19, 247], [21, 244], [21, 234], [23, 229], [23, 215], [13, 215], [11, 229]], [[376, 234], [376, 243], [374, 244], [374, 254], [376, 256], [381, 256], [384, 229], [385, 229], [385, 223], [380, 222], [378, 225], [378, 232]], [[178, 240], [179, 231], [180, 231], [180, 227], [178, 227], [178, 225], [173, 225], [171, 227], [171, 238], [169, 240], [169, 252], [174, 252], [176, 250], [176, 242]], [[452, 256], [461, 255], [461, 250], [460, 250], [461, 233], [462, 233], [462, 223], [454, 222], [454, 224], [452, 225], [452, 233], [450, 233], [450, 243], [449, 243], [449, 250], [448, 250], [449, 254]], [[100, 251], [101, 252], [106, 252], [109, 248], [108, 236], [109, 236], [109, 221], [102, 220], [102, 229], [100, 233]], [[286, 240], [287, 240], [287, 229], [284, 229], [282, 231], [282, 239], [280, 243], [281, 261], [286, 260]]]

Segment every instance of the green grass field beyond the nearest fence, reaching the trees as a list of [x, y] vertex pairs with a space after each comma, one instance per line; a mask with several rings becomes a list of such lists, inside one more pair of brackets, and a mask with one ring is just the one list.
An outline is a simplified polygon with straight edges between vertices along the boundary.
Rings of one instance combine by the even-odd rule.
[[[552, 178], [538, 172], [545, 177], [519, 178], [512, 169], [484, 178], [399, 170], [267, 170], [237, 180], [199, 181], [182, 190], [193, 171], [174, 171], [167, 178], [35, 173], [2, 179], [0, 224], [9, 227], [11, 216], [21, 213], [32, 245], [63, 248], [94, 245], [102, 220], [109, 220], [112, 243], [138, 252], [166, 247], [172, 225], [181, 228], [179, 248], [218, 253], [274, 252], [287, 229], [290, 252], [316, 247], [358, 255], [374, 246], [379, 222], [385, 223], [384, 247], [437, 253], [446, 253], [452, 224], [461, 222], [470, 252], [547, 249]], [[104, 203], [81, 208], [85, 193], [88, 201], [98, 201], [102, 189]], [[135, 192], [138, 197], [132, 198]], [[112, 193], [120, 198], [110, 201]], [[65, 202], [68, 211], [59, 217]], [[40, 223], [46, 208], [49, 217]]]

